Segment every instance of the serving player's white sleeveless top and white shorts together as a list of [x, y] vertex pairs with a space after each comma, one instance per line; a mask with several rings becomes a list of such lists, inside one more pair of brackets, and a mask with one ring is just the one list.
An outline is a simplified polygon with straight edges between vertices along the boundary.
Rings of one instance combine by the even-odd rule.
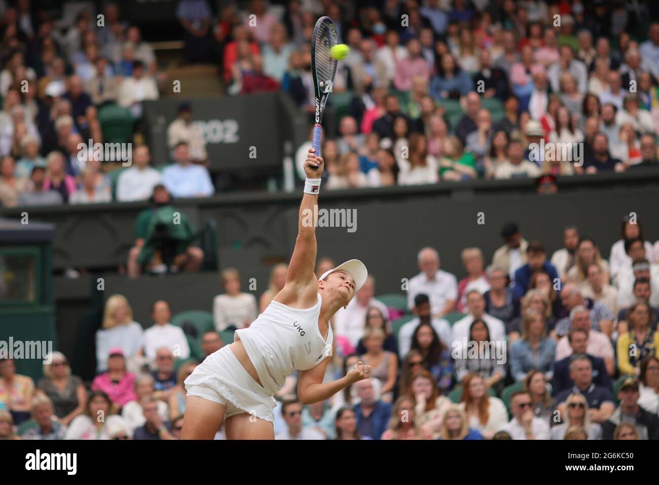
[[244, 369], [231, 348], [223, 346], [185, 379], [188, 395], [225, 404], [225, 418], [248, 412], [273, 422], [277, 401], [272, 396], [281, 389], [286, 377], [294, 370], [312, 369], [332, 354], [331, 325], [327, 340], [318, 328], [321, 303], [320, 293], [316, 305], [304, 309], [273, 300], [252, 325], [235, 331], [235, 339], [243, 341], [262, 386]]

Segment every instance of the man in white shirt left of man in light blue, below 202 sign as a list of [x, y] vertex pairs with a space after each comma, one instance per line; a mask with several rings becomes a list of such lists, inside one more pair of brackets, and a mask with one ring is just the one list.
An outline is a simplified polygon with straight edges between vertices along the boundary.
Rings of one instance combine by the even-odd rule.
[[117, 201], [146, 201], [154, 193], [162, 176], [149, 166], [151, 154], [146, 145], [138, 146], [132, 154], [133, 166], [121, 172], [117, 180]]

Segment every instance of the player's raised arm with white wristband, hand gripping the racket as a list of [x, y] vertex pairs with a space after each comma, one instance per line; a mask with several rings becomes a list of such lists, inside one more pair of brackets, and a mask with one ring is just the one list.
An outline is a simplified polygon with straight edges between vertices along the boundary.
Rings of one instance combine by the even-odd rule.
[[306, 182], [300, 205], [297, 240], [295, 240], [295, 249], [293, 249], [289, 271], [286, 275], [286, 284], [291, 284], [299, 289], [310, 286], [315, 295], [317, 282], [314, 266], [316, 265], [316, 216], [318, 212], [314, 210], [314, 206], [318, 205], [320, 176], [323, 173], [324, 162], [322, 157], [316, 157], [314, 151], [314, 148], [309, 148], [309, 153], [304, 161]]

